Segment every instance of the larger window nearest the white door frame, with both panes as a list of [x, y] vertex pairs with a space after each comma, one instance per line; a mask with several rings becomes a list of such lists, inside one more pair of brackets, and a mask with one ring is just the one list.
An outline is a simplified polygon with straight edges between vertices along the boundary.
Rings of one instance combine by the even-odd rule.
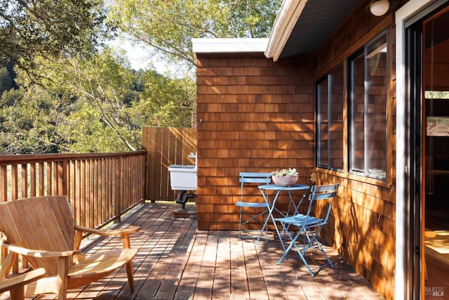
[[349, 59], [349, 171], [387, 177], [387, 36]]

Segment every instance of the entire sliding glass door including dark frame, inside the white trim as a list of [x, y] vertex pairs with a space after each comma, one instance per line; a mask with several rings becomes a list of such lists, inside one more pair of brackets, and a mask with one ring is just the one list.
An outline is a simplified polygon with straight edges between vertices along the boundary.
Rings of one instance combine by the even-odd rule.
[[449, 7], [408, 27], [410, 282], [414, 299], [449, 299]]

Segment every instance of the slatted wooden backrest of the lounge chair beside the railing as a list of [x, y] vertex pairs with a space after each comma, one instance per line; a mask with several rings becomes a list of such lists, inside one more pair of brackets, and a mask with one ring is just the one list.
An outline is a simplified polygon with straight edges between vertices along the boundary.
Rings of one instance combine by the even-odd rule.
[[[75, 221], [66, 196], [29, 197], [0, 204], [0, 230], [8, 242], [27, 249], [74, 250]], [[27, 256], [33, 268], [58, 272], [58, 258]]]

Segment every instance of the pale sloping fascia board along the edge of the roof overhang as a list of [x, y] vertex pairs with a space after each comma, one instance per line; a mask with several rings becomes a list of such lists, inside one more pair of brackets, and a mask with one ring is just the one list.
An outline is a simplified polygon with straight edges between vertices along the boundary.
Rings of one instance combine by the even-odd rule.
[[279, 59], [306, 3], [307, 0], [283, 0], [264, 53], [267, 58], [273, 58], [273, 61]]

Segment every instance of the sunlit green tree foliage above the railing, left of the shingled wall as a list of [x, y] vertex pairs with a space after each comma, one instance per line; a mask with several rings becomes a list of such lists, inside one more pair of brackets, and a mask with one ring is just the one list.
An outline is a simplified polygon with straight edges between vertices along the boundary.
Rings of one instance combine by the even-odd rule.
[[0, 152], [118, 152], [140, 149], [142, 126], [192, 126], [194, 84], [130, 69], [105, 48], [90, 58], [38, 60], [39, 84], [1, 98]]

